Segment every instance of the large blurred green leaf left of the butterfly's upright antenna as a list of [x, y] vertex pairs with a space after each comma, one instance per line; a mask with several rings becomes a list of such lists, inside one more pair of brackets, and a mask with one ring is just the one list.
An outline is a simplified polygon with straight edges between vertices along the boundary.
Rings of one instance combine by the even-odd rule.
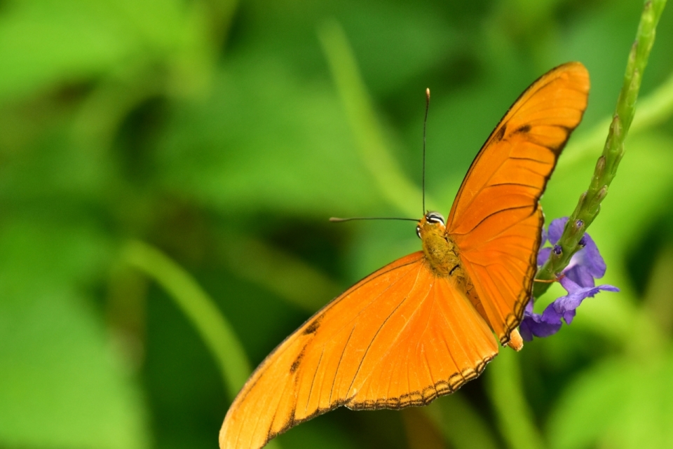
[[274, 57], [227, 64], [210, 98], [179, 109], [169, 130], [159, 182], [208, 207], [327, 218], [375, 203], [332, 86], [306, 83]]

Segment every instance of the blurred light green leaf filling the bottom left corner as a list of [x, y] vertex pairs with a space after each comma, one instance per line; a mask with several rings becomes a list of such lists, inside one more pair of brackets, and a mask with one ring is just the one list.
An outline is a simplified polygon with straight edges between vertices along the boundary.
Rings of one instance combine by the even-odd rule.
[[149, 447], [137, 386], [85, 298], [2, 289], [0, 445]]

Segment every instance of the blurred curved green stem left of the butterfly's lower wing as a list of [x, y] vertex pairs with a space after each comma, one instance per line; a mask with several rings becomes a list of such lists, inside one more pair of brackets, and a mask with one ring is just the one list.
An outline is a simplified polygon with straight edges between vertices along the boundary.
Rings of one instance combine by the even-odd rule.
[[189, 318], [215, 357], [226, 393], [233, 399], [252, 371], [243, 346], [212, 298], [195, 279], [168, 256], [149, 244], [125, 244], [123, 260], [156, 280]]

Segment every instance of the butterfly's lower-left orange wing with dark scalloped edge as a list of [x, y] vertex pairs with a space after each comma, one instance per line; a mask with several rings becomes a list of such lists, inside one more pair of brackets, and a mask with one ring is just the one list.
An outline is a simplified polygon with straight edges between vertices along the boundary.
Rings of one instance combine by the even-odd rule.
[[233, 401], [222, 449], [260, 448], [338, 406], [429, 403], [476, 378], [498, 352], [484, 319], [421, 251], [355, 284], [292, 333]]

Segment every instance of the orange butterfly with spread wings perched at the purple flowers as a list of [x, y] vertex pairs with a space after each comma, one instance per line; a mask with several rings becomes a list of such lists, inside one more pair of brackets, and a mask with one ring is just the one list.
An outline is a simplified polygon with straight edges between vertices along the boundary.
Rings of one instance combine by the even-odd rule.
[[589, 74], [570, 62], [538, 78], [491, 132], [449, 217], [428, 212], [423, 251], [365, 277], [266, 357], [224, 418], [221, 449], [261, 448], [339, 406], [421, 406], [476, 378], [531, 298], [538, 200], [587, 106]]

